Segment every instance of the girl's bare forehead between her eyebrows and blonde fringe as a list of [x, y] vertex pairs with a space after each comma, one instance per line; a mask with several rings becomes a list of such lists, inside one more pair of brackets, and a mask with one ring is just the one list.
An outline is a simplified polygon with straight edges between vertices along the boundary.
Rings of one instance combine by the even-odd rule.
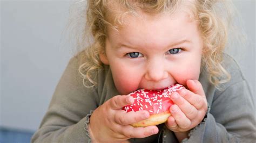
[[119, 42], [133, 47], [166, 47], [172, 42], [181, 40], [197, 41], [198, 23], [191, 20], [186, 12], [177, 12], [173, 15], [159, 15], [151, 17], [126, 17], [129, 23], [120, 27], [118, 31], [111, 28], [108, 37], [111, 44]]

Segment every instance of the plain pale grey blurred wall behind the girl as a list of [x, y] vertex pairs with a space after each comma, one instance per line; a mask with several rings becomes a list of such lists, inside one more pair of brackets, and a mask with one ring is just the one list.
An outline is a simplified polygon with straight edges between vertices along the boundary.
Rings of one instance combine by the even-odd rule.
[[[62, 39], [70, 2], [1, 1], [0, 127], [38, 128], [71, 58]], [[255, 1], [235, 5], [250, 42], [233, 55], [255, 95]]]

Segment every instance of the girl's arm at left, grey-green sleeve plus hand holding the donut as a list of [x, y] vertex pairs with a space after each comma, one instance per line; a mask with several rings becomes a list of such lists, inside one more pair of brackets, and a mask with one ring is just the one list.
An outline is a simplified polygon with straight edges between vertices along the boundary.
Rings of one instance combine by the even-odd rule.
[[[126, 113], [122, 110], [123, 106], [131, 104], [131, 100], [133, 102], [129, 96], [111, 97], [113, 93], [104, 93], [106, 96], [102, 95], [99, 99], [100, 84], [103, 83], [98, 82], [97, 91], [85, 88], [77, 69], [77, 60], [72, 59], [31, 142], [127, 142], [129, 138], [145, 138], [158, 132], [156, 126], [130, 126], [148, 118], [149, 113], [146, 112], [145, 116], [145, 111]], [[101, 81], [100, 78], [98, 81]], [[98, 103], [100, 101], [103, 103]]]

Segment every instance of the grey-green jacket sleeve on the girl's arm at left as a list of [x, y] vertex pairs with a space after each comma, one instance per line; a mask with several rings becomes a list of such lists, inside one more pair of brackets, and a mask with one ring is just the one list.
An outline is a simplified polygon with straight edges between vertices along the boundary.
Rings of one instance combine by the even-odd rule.
[[31, 142], [88, 142], [87, 123], [97, 108], [95, 88], [85, 88], [78, 73], [78, 60], [72, 58], [52, 96], [39, 129]]

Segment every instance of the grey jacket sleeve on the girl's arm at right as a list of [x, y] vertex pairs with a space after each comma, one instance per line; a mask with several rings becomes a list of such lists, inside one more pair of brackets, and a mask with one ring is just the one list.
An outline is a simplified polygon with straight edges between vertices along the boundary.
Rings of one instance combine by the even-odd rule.
[[[231, 81], [215, 90], [206, 118], [183, 142], [254, 142], [255, 108], [247, 81], [231, 60]], [[207, 96], [207, 95], [206, 95]]]

